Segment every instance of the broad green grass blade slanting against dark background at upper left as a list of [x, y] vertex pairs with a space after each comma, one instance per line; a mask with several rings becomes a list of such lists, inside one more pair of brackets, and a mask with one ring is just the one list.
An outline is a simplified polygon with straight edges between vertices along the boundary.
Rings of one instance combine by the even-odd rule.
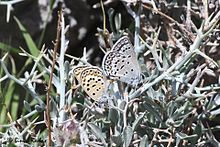
[[17, 22], [20, 31], [22, 32], [22, 35], [25, 39], [25, 42], [28, 46], [28, 49], [29, 49], [30, 53], [33, 56], [37, 57], [38, 54], [39, 54], [39, 50], [38, 50], [36, 44], [34, 43], [33, 39], [31, 38], [30, 34], [27, 32], [25, 27], [21, 24], [21, 22], [16, 17], [14, 17], [14, 19]]

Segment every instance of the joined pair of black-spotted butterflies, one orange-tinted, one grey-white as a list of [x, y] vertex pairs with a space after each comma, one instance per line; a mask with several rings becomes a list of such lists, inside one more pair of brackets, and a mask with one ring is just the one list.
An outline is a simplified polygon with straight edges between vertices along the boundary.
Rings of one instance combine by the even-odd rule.
[[76, 79], [83, 90], [95, 101], [99, 101], [107, 91], [111, 79], [118, 79], [132, 86], [142, 82], [141, 69], [134, 47], [127, 36], [121, 37], [107, 52], [102, 61], [102, 68], [78, 66], [74, 69]]

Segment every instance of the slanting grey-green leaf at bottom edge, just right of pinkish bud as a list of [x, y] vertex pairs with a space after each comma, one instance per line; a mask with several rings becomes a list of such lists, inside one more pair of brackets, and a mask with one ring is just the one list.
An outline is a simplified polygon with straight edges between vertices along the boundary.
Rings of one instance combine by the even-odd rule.
[[91, 129], [92, 134], [94, 134], [98, 139], [100, 139], [104, 146], [107, 146], [107, 143], [105, 142], [105, 135], [102, 133], [101, 129], [94, 123], [88, 123], [88, 126]]

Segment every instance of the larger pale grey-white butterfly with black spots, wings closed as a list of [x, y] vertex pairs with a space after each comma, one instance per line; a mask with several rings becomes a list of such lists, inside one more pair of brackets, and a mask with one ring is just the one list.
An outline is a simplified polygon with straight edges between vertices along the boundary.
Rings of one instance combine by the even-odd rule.
[[102, 68], [106, 76], [133, 87], [143, 81], [134, 46], [127, 36], [121, 37], [105, 54]]

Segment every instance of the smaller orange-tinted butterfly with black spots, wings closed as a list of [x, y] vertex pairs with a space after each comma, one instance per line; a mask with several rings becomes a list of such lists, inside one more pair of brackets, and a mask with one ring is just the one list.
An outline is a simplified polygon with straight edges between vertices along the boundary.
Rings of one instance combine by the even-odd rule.
[[100, 68], [95, 66], [77, 66], [74, 68], [73, 73], [82, 86], [82, 89], [94, 101], [99, 101], [104, 97], [109, 82]]

